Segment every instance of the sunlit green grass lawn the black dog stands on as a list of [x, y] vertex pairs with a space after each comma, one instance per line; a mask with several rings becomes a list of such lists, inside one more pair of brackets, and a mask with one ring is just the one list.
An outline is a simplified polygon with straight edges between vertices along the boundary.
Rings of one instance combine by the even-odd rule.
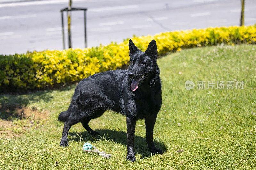
[[[91, 137], [79, 123], [69, 131], [69, 147], [60, 147], [63, 123], [57, 117], [68, 108], [72, 86], [0, 96], [1, 104], [19, 103], [51, 112], [47, 121], [15, 120], [9, 130], [17, 137], [2, 133], [0, 169], [255, 169], [256, 46], [187, 49], [160, 58], [158, 65], [163, 105], [154, 141], [164, 151], [162, 155], [148, 151], [140, 120], [135, 129], [136, 162], [127, 161], [126, 120], [111, 112], [89, 123], [101, 136]], [[194, 89], [185, 89], [186, 80], [195, 83]], [[205, 89], [197, 89], [198, 81], [206, 81]], [[244, 89], [235, 85], [234, 89], [207, 89], [208, 81], [216, 83], [215, 88], [217, 81], [225, 85], [244, 81]], [[85, 142], [113, 157], [83, 152]], [[176, 152], [180, 149], [184, 152]]]

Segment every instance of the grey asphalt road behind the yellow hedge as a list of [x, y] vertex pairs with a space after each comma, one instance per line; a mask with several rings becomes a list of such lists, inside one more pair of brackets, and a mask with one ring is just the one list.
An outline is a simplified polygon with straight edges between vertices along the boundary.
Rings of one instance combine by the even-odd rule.
[[[0, 0], [0, 54], [63, 49], [60, 9], [68, 0], [14, 1]], [[73, 0], [73, 7], [88, 8], [88, 47], [133, 35], [239, 25], [240, 6], [240, 0]], [[255, 10], [256, 1], [246, 0], [245, 25], [256, 23]], [[83, 17], [72, 12], [73, 48], [84, 47]]]

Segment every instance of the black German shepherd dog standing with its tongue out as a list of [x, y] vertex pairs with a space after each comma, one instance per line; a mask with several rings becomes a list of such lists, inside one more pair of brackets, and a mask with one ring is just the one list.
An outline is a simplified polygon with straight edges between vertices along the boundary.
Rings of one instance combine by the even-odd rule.
[[152, 40], [142, 52], [130, 39], [129, 50], [129, 69], [94, 74], [78, 83], [68, 110], [61, 112], [58, 118], [65, 122], [60, 146], [68, 146], [68, 130], [78, 122], [90, 134], [98, 134], [89, 127], [89, 121], [100, 117], [106, 110], [113, 110], [126, 116], [126, 159], [135, 161], [134, 131], [138, 119], [145, 119], [150, 152], [162, 153], [153, 143], [153, 128], [162, 104], [156, 41]]

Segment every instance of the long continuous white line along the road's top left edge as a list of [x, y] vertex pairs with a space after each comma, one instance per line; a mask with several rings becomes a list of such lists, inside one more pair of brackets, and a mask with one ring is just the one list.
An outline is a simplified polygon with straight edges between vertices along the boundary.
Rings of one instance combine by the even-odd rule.
[[[72, 0], [72, 2], [88, 1], [88, 0]], [[42, 0], [42, 1], [29, 1], [17, 3], [4, 3], [0, 4], [1, 7], [14, 7], [14, 6], [30, 6], [30, 5], [46, 5], [46, 4], [66, 4], [67, 0]]]

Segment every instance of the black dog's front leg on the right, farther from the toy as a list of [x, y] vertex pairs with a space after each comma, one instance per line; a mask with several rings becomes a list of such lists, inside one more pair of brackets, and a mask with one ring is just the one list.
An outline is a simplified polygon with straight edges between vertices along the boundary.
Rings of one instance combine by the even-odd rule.
[[148, 148], [151, 153], [162, 154], [163, 152], [156, 148], [153, 142], [153, 129], [156, 122], [156, 117], [147, 117], [145, 118], [146, 126], [146, 142], [148, 143]]

